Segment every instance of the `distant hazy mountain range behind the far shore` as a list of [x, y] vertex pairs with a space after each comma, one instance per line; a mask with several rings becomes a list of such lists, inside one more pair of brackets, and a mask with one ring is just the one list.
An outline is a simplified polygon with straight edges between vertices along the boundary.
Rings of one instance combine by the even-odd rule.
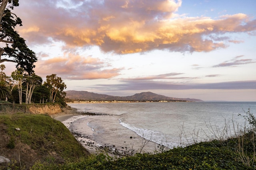
[[190, 102], [203, 102], [200, 99], [190, 99], [190, 98], [172, 98], [167, 97], [159, 94], [155, 94], [152, 92], [142, 92], [134, 94], [133, 96], [110, 96], [106, 94], [97, 94], [92, 92], [86, 91], [75, 91], [75, 90], [68, 90], [66, 92], [66, 98], [73, 99], [73, 100], [105, 100], [105, 101], [112, 101], [112, 100], [119, 100], [119, 101], [158, 101], [158, 100], [186, 100]]

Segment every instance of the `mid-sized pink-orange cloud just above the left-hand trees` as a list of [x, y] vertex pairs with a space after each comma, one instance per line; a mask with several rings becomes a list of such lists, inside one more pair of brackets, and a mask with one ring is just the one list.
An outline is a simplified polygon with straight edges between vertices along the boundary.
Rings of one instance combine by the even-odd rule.
[[106, 64], [108, 63], [104, 63], [92, 56], [82, 57], [68, 53], [64, 57], [55, 57], [47, 60], [39, 59], [34, 70], [36, 74], [42, 77], [54, 72], [54, 74], [66, 80], [92, 80], [118, 76], [119, 72], [124, 69], [107, 69]]

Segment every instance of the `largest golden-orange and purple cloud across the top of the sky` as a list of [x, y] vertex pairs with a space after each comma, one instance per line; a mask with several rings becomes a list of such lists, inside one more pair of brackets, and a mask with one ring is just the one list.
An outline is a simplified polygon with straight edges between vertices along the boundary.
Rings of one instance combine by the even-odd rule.
[[16, 11], [24, 22], [20, 34], [30, 44], [47, 43], [50, 37], [69, 47], [96, 45], [116, 54], [154, 49], [208, 52], [242, 42], [224, 33], [256, 31], [256, 20], [246, 14], [218, 20], [184, 17], [177, 14], [181, 4], [181, 0], [23, 0]]

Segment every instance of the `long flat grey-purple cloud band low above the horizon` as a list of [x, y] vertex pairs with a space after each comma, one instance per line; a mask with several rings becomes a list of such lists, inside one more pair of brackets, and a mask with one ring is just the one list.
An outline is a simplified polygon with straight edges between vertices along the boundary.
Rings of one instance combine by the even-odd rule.
[[132, 81], [126, 80], [122, 84], [98, 84], [97, 88], [108, 90], [193, 90], [193, 89], [222, 89], [222, 90], [241, 90], [241, 89], [256, 89], [256, 81], [236, 81], [236, 82], [218, 82], [218, 83], [205, 83], [205, 84], [182, 84], [172, 82], [160, 81]]

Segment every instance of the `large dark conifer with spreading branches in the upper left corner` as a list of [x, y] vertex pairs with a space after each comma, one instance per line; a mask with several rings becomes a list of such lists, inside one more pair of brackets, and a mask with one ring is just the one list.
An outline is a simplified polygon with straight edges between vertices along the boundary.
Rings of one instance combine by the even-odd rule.
[[[37, 61], [35, 53], [28, 48], [25, 40], [20, 37], [15, 27], [22, 26], [22, 21], [10, 9], [19, 6], [18, 0], [0, 0], [0, 63], [8, 61], [17, 63], [16, 68], [23, 68], [28, 74], [33, 71]], [[4, 9], [4, 10], [3, 10]], [[2, 58], [5, 57], [5, 58]]]

